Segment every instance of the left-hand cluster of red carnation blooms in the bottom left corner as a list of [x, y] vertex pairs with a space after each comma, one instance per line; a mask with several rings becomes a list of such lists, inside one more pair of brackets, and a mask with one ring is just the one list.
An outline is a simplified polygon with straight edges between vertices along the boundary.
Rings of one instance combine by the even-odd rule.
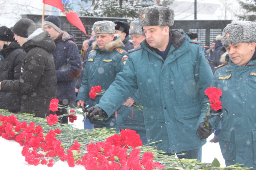
[[[24, 146], [21, 153], [28, 164], [52, 166], [55, 162], [53, 157], [63, 157], [65, 152], [60, 145], [61, 141], [55, 138], [60, 134], [60, 129], [51, 129], [44, 135], [40, 125], [36, 126], [35, 122], [29, 125], [27, 122], [20, 123], [14, 115], [0, 115], [0, 122], [3, 122], [0, 126], [0, 136], [7, 140], [15, 140]], [[40, 151], [37, 151], [38, 149]]]

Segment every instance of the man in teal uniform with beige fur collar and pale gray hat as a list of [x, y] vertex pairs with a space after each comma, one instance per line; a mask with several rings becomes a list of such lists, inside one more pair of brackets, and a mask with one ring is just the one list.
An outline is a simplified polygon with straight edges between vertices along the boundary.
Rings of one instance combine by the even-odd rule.
[[[78, 91], [77, 106], [84, 106], [89, 98], [91, 87], [101, 86], [106, 91], [109, 85], [115, 80], [116, 74], [123, 70], [128, 58], [127, 52], [121, 49], [124, 46], [120, 39], [114, 40], [115, 24], [112, 21], [98, 21], [93, 24], [93, 31], [96, 34], [96, 41], [92, 44], [92, 51], [84, 67], [82, 85]], [[99, 103], [102, 95], [89, 100], [89, 107]], [[117, 110], [117, 109], [116, 109]], [[95, 127], [116, 128], [115, 111], [111, 111], [107, 120], [92, 123]]]

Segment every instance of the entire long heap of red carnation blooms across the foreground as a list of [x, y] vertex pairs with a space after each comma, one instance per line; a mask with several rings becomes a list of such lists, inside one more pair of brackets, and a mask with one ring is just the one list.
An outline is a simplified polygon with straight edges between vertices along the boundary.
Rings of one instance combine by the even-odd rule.
[[62, 144], [55, 138], [60, 133], [60, 129], [51, 129], [44, 134], [42, 127], [36, 126], [35, 122], [28, 125], [27, 122], [17, 121], [14, 115], [0, 115], [0, 136], [7, 140], [15, 140], [23, 146], [21, 153], [29, 165], [53, 166], [60, 159], [67, 161], [70, 167], [80, 164], [86, 170], [164, 168], [159, 162], [153, 162], [152, 152], [144, 153], [140, 159], [140, 149], [136, 147], [141, 146], [142, 142], [134, 130], [125, 129], [120, 135], [108, 137], [105, 142], [91, 143], [86, 146], [88, 153], [80, 151], [81, 144], [77, 141], [70, 147]]

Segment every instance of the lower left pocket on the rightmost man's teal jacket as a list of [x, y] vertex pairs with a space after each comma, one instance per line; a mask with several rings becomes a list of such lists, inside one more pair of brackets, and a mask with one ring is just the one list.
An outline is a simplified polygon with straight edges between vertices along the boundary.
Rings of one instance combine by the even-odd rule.
[[233, 161], [236, 157], [236, 147], [231, 139], [232, 131], [221, 130], [218, 136], [222, 156], [225, 160]]

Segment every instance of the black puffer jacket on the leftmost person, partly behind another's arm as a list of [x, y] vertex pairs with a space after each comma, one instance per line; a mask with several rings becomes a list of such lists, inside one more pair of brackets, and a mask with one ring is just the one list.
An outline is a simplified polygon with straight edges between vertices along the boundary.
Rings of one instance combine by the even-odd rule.
[[[12, 41], [9, 46], [0, 51], [0, 54], [3, 55], [0, 61], [0, 81], [19, 79], [21, 64], [26, 56], [20, 44]], [[1, 109], [17, 113], [20, 112], [20, 106], [20, 95], [0, 90]]]

